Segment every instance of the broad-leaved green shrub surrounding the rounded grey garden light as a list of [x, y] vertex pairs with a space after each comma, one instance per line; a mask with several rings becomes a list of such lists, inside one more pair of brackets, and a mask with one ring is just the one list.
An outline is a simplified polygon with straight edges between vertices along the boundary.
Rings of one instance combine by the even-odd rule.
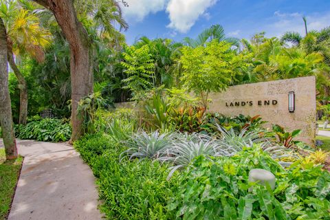
[[[274, 192], [248, 182], [252, 168], [276, 175]], [[216, 162], [197, 157], [168, 208], [177, 219], [329, 219], [329, 199], [330, 174], [320, 166], [298, 161], [284, 170], [260, 148], [245, 148]]]

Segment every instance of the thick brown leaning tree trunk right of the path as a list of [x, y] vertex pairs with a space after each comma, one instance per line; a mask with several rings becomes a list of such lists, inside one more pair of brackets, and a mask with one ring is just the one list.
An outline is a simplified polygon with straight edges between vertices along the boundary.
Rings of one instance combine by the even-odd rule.
[[72, 87], [72, 137], [83, 135], [83, 115], [78, 113], [79, 101], [93, 93], [93, 63], [91, 42], [78, 21], [72, 0], [34, 0], [54, 13], [58, 25], [70, 47], [70, 74]]

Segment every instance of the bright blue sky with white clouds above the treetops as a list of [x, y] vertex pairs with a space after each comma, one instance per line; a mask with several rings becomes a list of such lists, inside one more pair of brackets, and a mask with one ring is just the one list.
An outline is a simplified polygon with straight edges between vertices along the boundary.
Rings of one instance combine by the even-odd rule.
[[222, 25], [226, 36], [250, 39], [255, 33], [267, 37], [284, 32], [305, 32], [330, 26], [330, 0], [125, 0], [122, 7], [129, 30], [123, 32], [129, 44], [141, 36], [170, 38], [179, 42], [195, 38], [214, 24]]

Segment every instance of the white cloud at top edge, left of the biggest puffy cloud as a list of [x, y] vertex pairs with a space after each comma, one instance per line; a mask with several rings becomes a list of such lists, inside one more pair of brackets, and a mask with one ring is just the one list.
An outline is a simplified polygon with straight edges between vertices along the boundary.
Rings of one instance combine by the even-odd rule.
[[142, 21], [149, 13], [165, 10], [168, 0], [126, 0], [129, 7], [122, 7], [124, 17], [130, 21]]

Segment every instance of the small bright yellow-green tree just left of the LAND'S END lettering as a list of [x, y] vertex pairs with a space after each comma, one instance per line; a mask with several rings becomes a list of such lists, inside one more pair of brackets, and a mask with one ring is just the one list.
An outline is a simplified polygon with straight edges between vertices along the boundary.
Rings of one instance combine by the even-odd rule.
[[204, 107], [208, 106], [211, 91], [225, 90], [239, 74], [235, 67], [239, 66], [240, 60], [230, 47], [230, 43], [213, 40], [206, 47], [182, 48], [182, 87], [195, 92]]

